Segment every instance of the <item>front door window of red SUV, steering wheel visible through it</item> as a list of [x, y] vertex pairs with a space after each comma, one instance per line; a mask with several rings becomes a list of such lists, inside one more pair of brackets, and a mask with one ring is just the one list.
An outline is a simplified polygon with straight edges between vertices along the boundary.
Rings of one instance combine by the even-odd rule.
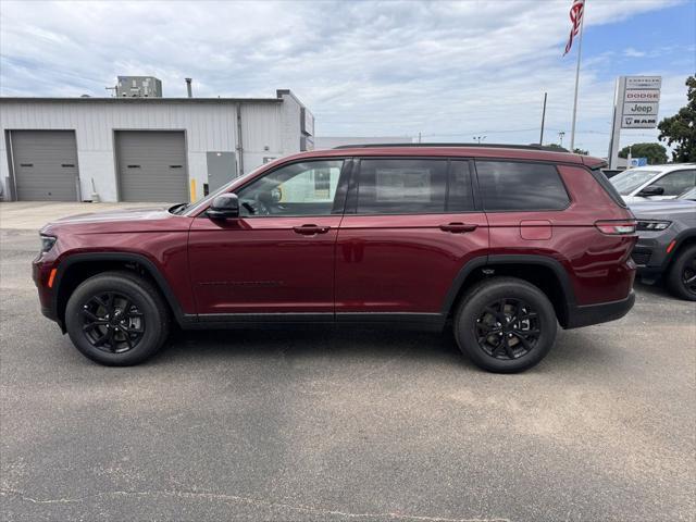
[[239, 214], [328, 215], [343, 163], [308, 161], [282, 166], [237, 191]]

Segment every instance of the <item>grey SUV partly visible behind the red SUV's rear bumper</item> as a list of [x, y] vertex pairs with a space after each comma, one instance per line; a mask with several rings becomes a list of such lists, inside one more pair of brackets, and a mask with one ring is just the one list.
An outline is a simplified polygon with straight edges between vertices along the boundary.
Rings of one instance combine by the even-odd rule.
[[663, 279], [683, 299], [696, 301], [696, 188], [675, 200], [631, 206], [638, 241], [631, 254], [643, 281]]

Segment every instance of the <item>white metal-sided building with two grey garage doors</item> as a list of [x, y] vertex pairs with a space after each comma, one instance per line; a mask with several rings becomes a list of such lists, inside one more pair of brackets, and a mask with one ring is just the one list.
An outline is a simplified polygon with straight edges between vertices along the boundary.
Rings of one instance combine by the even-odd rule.
[[0, 98], [4, 200], [186, 201], [313, 148], [314, 119], [276, 98]]

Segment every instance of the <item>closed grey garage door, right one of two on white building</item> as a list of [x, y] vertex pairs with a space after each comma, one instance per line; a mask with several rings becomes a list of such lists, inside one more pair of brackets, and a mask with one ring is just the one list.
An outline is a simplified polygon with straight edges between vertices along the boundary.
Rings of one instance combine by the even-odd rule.
[[188, 201], [183, 132], [120, 130], [116, 162], [122, 201]]

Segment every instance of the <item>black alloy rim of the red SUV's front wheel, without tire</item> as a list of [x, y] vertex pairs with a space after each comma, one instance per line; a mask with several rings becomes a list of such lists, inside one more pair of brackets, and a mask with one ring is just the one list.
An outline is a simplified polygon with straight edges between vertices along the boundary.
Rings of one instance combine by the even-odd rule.
[[123, 294], [98, 294], [83, 306], [80, 314], [89, 344], [110, 353], [132, 350], [145, 335], [142, 312]]

